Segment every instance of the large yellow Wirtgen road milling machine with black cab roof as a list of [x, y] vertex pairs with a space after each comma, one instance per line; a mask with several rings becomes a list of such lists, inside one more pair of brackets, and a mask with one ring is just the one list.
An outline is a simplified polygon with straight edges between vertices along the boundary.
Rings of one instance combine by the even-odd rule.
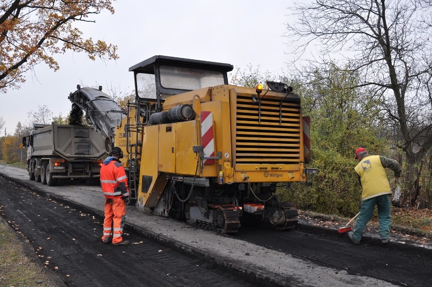
[[129, 68], [135, 100], [115, 127], [131, 197], [159, 216], [222, 233], [241, 222], [293, 229], [277, 186], [305, 182], [309, 123], [284, 83], [228, 84], [231, 64], [153, 56]]

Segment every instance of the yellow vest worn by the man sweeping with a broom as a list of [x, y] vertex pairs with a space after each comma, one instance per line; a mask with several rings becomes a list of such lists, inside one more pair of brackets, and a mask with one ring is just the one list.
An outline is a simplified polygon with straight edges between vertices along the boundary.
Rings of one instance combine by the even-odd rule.
[[354, 169], [362, 183], [362, 200], [391, 194], [390, 184], [380, 156], [365, 156]]

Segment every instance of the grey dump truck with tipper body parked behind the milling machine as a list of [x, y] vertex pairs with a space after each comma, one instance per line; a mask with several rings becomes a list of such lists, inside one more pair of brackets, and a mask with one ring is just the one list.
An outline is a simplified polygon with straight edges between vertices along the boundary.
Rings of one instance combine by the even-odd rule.
[[93, 126], [35, 124], [22, 138], [30, 180], [55, 186], [60, 178], [82, 178], [98, 184], [106, 156], [105, 137]]

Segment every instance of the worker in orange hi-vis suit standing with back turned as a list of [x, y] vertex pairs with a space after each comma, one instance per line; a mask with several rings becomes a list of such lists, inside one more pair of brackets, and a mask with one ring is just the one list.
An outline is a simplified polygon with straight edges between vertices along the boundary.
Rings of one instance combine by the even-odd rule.
[[129, 202], [127, 176], [120, 162], [123, 152], [115, 147], [100, 168], [100, 186], [105, 196], [105, 219], [103, 221], [103, 243], [127, 245], [123, 240], [123, 228], [126, 220], [126, 204]]

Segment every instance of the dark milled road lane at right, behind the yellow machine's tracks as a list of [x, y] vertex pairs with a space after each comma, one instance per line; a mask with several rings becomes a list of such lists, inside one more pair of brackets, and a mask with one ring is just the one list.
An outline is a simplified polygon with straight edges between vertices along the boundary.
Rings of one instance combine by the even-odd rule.
[[[315, 228], [275, 232], [242, 226], [236, 238], [296, 255], [321, 266], [402, 286], [432, 286], [432, 250], [366, 238], [354, 245], [346, 234]], [[350, 284], [355, 285], [355, 281]]]

